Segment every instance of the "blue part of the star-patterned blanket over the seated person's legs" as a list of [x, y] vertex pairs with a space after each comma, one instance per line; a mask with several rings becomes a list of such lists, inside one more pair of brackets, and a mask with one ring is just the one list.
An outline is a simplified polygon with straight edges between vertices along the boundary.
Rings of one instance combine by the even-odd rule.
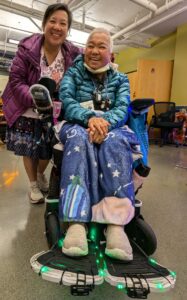
[[128, 199], [134, 206], [133, 161], [141, 157], [135, 133], [124, 126], [110, 131], [102, 144], [89, 142], [79, 125], [65, 123], [59, 216], [62, 221], [90, 222], [92, 206], [104, 197]]

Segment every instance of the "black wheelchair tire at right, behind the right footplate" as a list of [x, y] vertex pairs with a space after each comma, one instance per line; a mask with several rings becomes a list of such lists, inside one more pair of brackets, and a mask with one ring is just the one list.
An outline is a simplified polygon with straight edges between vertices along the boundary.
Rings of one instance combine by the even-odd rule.
[[151, 226], [144, 221], [141, 215], [132, 223], [127, 234], [148, 256], [152, 255], [157, 248], [157, 239]]

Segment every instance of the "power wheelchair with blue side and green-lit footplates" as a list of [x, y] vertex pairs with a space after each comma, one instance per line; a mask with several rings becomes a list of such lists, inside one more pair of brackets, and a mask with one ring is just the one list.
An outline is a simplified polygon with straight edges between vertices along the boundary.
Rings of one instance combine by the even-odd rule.
[[[31, 95], [40, 118], [48, 118], [49, 132], [53, 126], [53, 102], [50, 97], [54, 88], [52, 85], [49, 79], [44, 79], [31, 87]], [[137, 161], [134, 169], [142, 177], [147, 177], [150, 171], [147, 166], [146, 120], [148, 108], [153, 103], [153, 99], [137, 99], [131, 102], [129, 107], [128, 125], [138, 135], [143, 152], [143, 160]], [[163, 292], [174, 287], [175, 272], [161, 266], [150, 257], [157, 248], [157, 239], [141, 214], [142, 202], [138, 199], [135, 200], [135, 216], [125, 226], [133, 248], [133, 261], [127, 263], [105, 256], [104, 224], [88, 225], [87, 256], [68, 257], [61, 252], [65, 236], [65, 228], [62, 228], [58, 218], [62, 156], [63, 147], [54, 137], [53, 167], [44, 215], [49, 250], [31, 258], [32, 269], [43, 279], [70, 286], [74, 296], [87, 296], [96, 285], [104, 281], [122, 290], [130, 298], [136, 299], [147, 299], [150, 292]]]

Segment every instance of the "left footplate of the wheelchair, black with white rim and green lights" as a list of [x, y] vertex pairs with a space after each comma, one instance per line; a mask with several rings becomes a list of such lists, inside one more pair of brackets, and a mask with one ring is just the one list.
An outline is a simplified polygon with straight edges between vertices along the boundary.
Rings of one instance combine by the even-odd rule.
[[104, 260], [93, 242], [89, 242], [89, 254], [86, 256], [69, 257], [56, 246], [34, 255], [30, 263], [43, 279], [70, 286], [74, 296], [89, 295], [95, 285], [104, 281]]

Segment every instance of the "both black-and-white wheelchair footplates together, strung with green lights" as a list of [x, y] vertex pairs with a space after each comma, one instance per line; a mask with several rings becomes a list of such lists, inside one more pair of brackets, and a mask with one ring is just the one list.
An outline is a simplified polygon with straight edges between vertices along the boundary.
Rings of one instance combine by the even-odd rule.
[[89, 242], [89, 254], [68, 257], [61, 247], [34, 255], [32, 269], [45, 280], [71, 287], [71, 294], [86, 296], [95, 285], [108, 282], [130, 298], [147, 299], [150, 292], [166, 292], [174, 287], [175, 272], [159, 265], [132, 242], [133, 260], [123, 262], [104, 255], [103, 243]]

